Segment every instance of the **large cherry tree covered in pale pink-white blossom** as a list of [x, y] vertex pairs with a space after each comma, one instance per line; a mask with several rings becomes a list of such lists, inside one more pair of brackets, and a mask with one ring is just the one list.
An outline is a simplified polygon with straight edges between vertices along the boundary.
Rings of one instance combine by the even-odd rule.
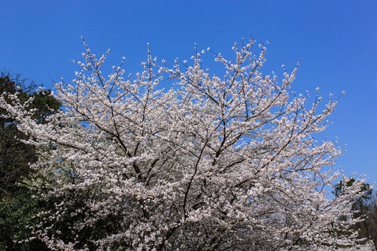
[[342, 151], [314, 137], [337, 100], [318, 111], [318, 89], [311, 105], [290, 91], [297, 68], [282, 81], [261, 73], [266, 47], [253, 45], [235, 44], [234, 61], [208, 49], [224, 76], [202, 69], [205, 51], [172, 68], [149, 51], [125, 78], [121, 67], [103, 75], [108, 53], [85, 44], [82, 70], [55, 84], [64, 109], [45, 124], [30, 102], [2, 96], [39, 149], [30, 186], [54, 204], [35, 236], [52, 250], [362, 248], [350, 208], [364, 180], [327, 195]]

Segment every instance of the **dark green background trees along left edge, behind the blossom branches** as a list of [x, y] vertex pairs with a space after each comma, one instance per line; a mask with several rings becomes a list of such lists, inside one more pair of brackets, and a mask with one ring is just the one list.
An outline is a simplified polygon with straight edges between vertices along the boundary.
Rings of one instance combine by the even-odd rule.
[[[16, 95], [24, 103], [34, 98], [29, 109], [36, 109], [33, 119], [44, 123], [45, 117], [59, 109], [59, 102], [50, 96], [50, 91], [36, 92], [36, 84], [28, 84], [20, 75], [0, 75], [0, 93]], [[31, 237], [28, 225], [37, 222], [34, 216], [45, 208], [45, 202], [32, 199], [34, 195], [22, 181], [33, 172], [29, 164], [36, 162], [36, 147], [24, 144], [29, 137], [17, 129], [17, 121], [10, 118], [5, 109], [0, 109], [0, 250], [47, 250], [38, 239], [17, 243]], [[35, 196], [35, 195], [34, 195]]]

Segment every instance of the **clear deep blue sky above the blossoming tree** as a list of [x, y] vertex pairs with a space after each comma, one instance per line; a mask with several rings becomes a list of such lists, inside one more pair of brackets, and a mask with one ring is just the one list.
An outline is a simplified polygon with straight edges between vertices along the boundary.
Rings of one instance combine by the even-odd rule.
[[241, 38], [269, 40], [266, 73], [292, 70], [293, 89], [328, 100], [345, 96], [330, 117], [329, 139], [347, 144], [337, 162], [345, 174], [377, 181], [377, 1], [1, 1], [0, 68], [51, 88], [77, 70], [84, 51], [113, 50], [110, 65], [126, 56], [126, 72], [140, 70], [147, 43], [172, 65], [211, 47], [230, 54]]

